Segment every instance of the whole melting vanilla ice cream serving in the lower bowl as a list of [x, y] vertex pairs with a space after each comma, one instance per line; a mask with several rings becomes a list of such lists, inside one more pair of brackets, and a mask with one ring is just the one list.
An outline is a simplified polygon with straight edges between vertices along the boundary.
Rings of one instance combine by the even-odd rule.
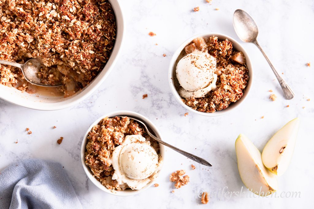
[[123, 143], [113, 150], [111, 162], [115, 170], [112, 180], [119, 185], [127, 184], [133, 190], [147, 185], [161, 165], [155, 149], [141, 135], [127, 135]]

